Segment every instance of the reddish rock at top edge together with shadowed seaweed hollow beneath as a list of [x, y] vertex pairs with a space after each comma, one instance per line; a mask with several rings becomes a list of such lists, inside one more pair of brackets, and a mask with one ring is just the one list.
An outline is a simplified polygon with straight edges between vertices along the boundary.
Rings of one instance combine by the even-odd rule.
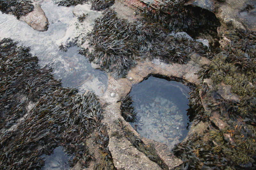
[[212, 50], [216, 50], [215, 48], [219, 46], [217, 28], [220, 22], [213, 13], [213, 9], [216, 8], [213, 0], [124, 0], [124, 2], [133, 8], [136, 7], [137, 10], [142, 11], [144, 17], [160, 23], [165, 28], [184, 31], [194, 39], [208, 39]]

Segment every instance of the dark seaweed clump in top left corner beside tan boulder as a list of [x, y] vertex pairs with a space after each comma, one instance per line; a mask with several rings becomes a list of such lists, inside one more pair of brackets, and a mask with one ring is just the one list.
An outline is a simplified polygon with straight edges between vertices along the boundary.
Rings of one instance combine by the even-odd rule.
[[22, 15], [33, 11], [34, 5], [29, 0], [0, 0], [0, 11], [3, 13], [12, 13], [17, 19]]

